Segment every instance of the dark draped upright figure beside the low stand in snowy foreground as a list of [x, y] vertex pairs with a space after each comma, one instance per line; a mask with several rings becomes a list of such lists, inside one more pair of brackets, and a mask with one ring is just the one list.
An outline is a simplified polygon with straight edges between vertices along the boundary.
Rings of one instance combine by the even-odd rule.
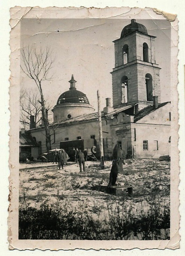
[[116, 184], [116, 179], [117, 179], [118, 173], [124, 174], [123, 164], [125, 164], [123, 151], [116, 144], [116, 146], [114, 147], [114, 150], [113, 150], [113, 161], [112, 161], [112, 168], [110, 171], [108, 188], [110, 188], [110, 186], [114, 186]]

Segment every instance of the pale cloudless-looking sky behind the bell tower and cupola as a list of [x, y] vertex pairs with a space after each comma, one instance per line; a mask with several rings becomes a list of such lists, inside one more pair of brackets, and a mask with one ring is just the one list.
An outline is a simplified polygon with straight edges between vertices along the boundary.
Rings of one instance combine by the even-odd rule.
[[[159, 64], [161, 102], [170, 100], [170, 22], [167, 20], [136, 20], [154, 35], [156, 63]], [[85, 93], [97, 109], [97, 89], [102, 109], [105, 98], [112, 99], [114, 43], [120, 38], [128, 19], [21, 19], [21, 44], [51, 46], [55, 62], [52, 81], [43, 82], [44, 96], [54, 107], [60, 94], [69, 89], [71, 74], [76, 88]], [[35, 90], [34, 81], [21, 72], [21, 87]]]

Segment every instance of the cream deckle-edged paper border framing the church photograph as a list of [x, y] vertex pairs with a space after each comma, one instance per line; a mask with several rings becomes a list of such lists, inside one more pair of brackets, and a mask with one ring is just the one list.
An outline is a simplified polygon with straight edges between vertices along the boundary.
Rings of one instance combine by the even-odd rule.
[[[177, 54], [178, 54], [178, 20], [170, 15], [171, 21], [171, 222], [170, 241], [84, 241], [84, 240], [20, 240], [18, 239], [18, 205], [19, 205], [19, 90], [20, 90], [20, 20], [26, 18], [124, 18], [124, 19], [165, 19], [163, 15], [156, 14], [151, 8], [129, 8], [110, 7], [104, 9], [97, 8], [39, 8], [39, 7], [14, 7], [11, 9], [11, 87], [10, 94], [10, 214], [9, 214], [9, 243], [10, 249], [177, 249], [179, 247], [179, 151], [178, 142], [178, 92], [177, 92]], [[170, 85], [169, 85], [170, 87]], [[170, 88], [169, 88], [170, 89]]]

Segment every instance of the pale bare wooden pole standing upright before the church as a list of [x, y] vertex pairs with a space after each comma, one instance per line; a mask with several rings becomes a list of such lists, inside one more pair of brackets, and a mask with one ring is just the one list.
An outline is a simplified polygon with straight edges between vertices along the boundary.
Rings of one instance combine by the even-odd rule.
[[99, 140], [100, 140], [100, 162], [101, 168], [104, 169], [104, 155], [103, 155], [103, 132], [102, 132], [102, 115], [100, 109], [100, 95], [99, 90], [97, 90], [97, 98], [98, 98], [98, 127], [99, 127]]

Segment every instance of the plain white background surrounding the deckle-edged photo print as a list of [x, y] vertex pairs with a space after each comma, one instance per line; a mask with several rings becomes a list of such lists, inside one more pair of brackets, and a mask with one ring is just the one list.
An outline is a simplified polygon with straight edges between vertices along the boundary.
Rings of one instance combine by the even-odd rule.
[[[93, 1], [93, 3], [91, 3], [92, 1], [88, 1], [88, 5], [89, 6], [97, 6], [97, 7], [105, 7], [106, 5], [107, 6], [122, 6], [123, 5], [123, 1], [114, 1], [114, 3], [112, 3], [112, 1], [109, 1], [107, 0], [106, 3], [104, 4], [105, 1], [101, 1], [101, 3], [98, 3], [98, 1]], [[82, 5], [84, 6], [85, 3], [84, 1], [66, 1], [66, 6], [80, 6], [79, 5]], [[183, 166], [183, 156], [184, 156], [184, 125], [185, 125], [185, 122], [184, 122], [184, 68], [183, 68], [183, 65], [184, 65], [184, 62], [183, 62], [183, 57], [184, 57], [184, 53], [183, 53], [183, 42], [184, 42], [184, 20], [183, 20], [183, 15], [184, 15], [184, 8], [182, 6], [182, 1], [180, 0], [177, 0], [176, 3], [171, 3], [169, 1], [160, 1], [160, 0], [156, 0], [155, 2], [150, 2], [150, 6], [152, 7], [156, 7], [156, 8], [159, 8], [159, 9], [163, 9], [167, 12], [171, 12], [171, 13], [176, 13], [178, 14], [178, 19], [180, 21], [179, 23], [179, 35], [180, 35], [180, 40], [179, 40], [179, 49], [180, 49], [180, 56], [178, 56], [179, 58], [179, 66], [178, 66], [178, 78], [179, 78], [179, 85], [178, 85], [178, 90], [180, 91], [180, 95], [179, 95], [179, 112], [180, 112], [180, 117], [179, 117], [179, 122], [181, 124], [180, 126], [180, 129], [179, 129], [179, 135], [180, 135], [180, 140], [179, 140], [179, 149], [180, 149], [180, 156], [181, 156], [181, 159], [180, 159], [180, 167], [181, 167], [181, 170], [184, 170], [184, 166]], [[14, 0], [11, 0], [9, 1], [9, 3], [7, 4], [4, 4], [3, 7], [1, 9], [1, 14], [2, 14], [2, 18], [5, 17], [4, 21], [7, 22], [7, 20], [9, 19], [9, 7], [12, 7], [14, 5], [21, 5], [21, 6], [29, 6], [30, 4], [32, 4], [33, 6], [36, 6], [36, 5], [40, 5], [40, 6], [43, 6], [43, 1], [40, 1], [40, 0], [37, 0], [37, 1], [15, 1]], [[45, 6], [49, 6], [49, 5], [55, 5], [55, 6], [60, 6], [61, 5], [61, 2], [60, 1], [44, 1], [44, 7]], [[173, 6], [174, 4], [174, 6]], [[125, 6], [130, 6], [130, 7], [133, 7], [133, 6], [139, 6], [139, 7], [144, 7], [144, 6], [149, 6], [149, 3], [147, 0], [138, 0], [138, 1], [127, 1], [125, 0], [124, 1], [124, 5]], [[87, 3], [86, 5], [87, 6]], [[4, 37], [3, 37], [3, 40], [1, 40], [1, 44], [2, 44], [2, 47], [5, 48], [6, 52], [2, 53], [2, 63], [5, 65], [1, 65], [1, 72], [4, 76], [1, 77], [1, 80], [2, 82], [4, 82], [5, 84], [5, 87], [2, 87], [2, 95], [5, 97], [2, 97], [3, 99], [1, 99], [1, 106], [3, 106], [3, 108], [1, 107], [0, 110], [1, 110], [1, 114], [4, 114], [3, 116], [3, 119], [2, 121], [5, 122], [4, 124], [4, 128], [5, 129], [2, 129], [2, 143], [5, 143], [5, 145], [7, 146], [7, 140], [8, 140], [8, 136], [7, 136], [7, 132], [8, 132], [8, 125], [7, 125], [7, 122], [8, 122], [8, 103], [7, 103], [7, 99], [8, 99], [8, 94], [7, 94], [7, 87], [9, 86], [9, 83], [8, 83], [8, 77], [9, 77], [9, 71], [8, 71], [8, 68], [7, 68], [7, 56], [9, 54], [9, 49], [7, 47], [7, 40], [8, 40], [8, 30], [7, 28], [8, 25], [5, 24], [5, 26], [2, 26], [3, 29], [4, 27], [6, 28], [6, 30], [4, 31]], [[6, 87], [7, 86], [7, 87]], [[3, 94], [4, 93], [4, 94]], [[5, 136], [4, 136], [5, 134]], [[1, 148], [2, 149], [2, 148]], [[2, 151], [1, 151], [2, 152]], [[5, 158], [6, 162], [2, 162], [2, 168], [4, 169], [4, 171], [1, 172], [1, 175], [2, 175], [2, 178], [5, 178], [8, 176], [8, 168], [7, 168], [7, 159], [8, 159], [8, 149], [6, 148], [4, 150], [4, 152], [2, 152], [2, 159]], [[184, 178], [184, 173], [181, 172], [180, 173], [180, 179], [182, 180]], [[183, 214], [183, 210], [184, 210], [184, 204], [183, 204], [183, 198], [184, 198], [184, 195], [183, 195], [183, 184], [180, 183], [179, 185], [180, 189], [181, 189], [181, 193], [180, 193], [180, 198], [181, 198], [181, 205], [180, 205], [180, 211], [181, 211], [181, 214]], [[1, 195], [7, 195], [8, 194], [8, 189], [7, 189], [7, 182], [6, 180], [3, 180], [1, 179]], [[4, 203], [2, 205], [2, 203]], [[4, 197], [1, 197], [1, 206], [3, 209], [3, 222], [2, 222], [2, 226], [3, 226], [3, 235], [2, 235], [2, 248], [1, 248], [1, 252], [2, 252], [2, 255], [10, 255], [11, 254], [14, 254], [14, 255], [20, 255], [20, 251], [8, 251], [8, 245], [6, 243], [6, 239], [7, 239], [7, 235], [6, 235], [6, 227], [7, 227], [7, 223], [6, 223], [6, 217], [7, 217], [7, 205], [8, 205], [8, 202], [6, 200], [6, 198]], [[183, 230], [182, 228], [184, 227], [184, 219], [181, 219], [181, 230], [180, 230], [180, 234], [183, 235]], [[183, 255], [181, 254], [181, 252], [183, 252], [183, 241], [184, 241], [184, 236], [181, 236], [181, 249], [178, 249], [177, 251], [175, 251], [175, 253], [177, 252], [178, 255]], [[5, 252], [4, 252], [5, 251]], [[43, 251], [35, 251], [35, 255], [41, 255]], [[91, 254], [91, 255], [95, 255], [97, 254], [97, 251], [84, 251], [84, 250], [75, 250], [75, 251], [62, 251], [62, 254], [63, 255], [77, 255], [77, 252], [80, 253], [79, 255], [87, 255], [85, 252]], [[109, 254], [109, 252], [105, 252], [105, 251], [99, 251], [102, 255], [106, 253], [106, 255]], [[156, 250], [144, 250], [144, 251], [141, 251], [141, 250], [138, 250], [138, 249], [134, 249], [132, 250], [132, 253], [133, 255], [145, 255], [144, 252], [146, 253], [146, 255], [156, 255], [156, 253], [158, 253]], [[24, 252], [21, 252], [23, 254], [26, 253], [26, 255], [30, 255], [32, 254], [31, 251], [24, 251]], [[44, 252], [44, 255], [47, 255], [47, 253], [50, 253], [49, 251], [45, 251]], [[116, 250], [116, 251], [110, 251], [111, 255], [121, 255], [121, 251], [120, 250]], [[124, 251], [124, 255], [130, 255], [130, 252], [129, 251]], [[51, 255], [51, 254], [50, 254]], [[52, 254], [53, 255], [53, 254]], [[172, 250], [165, 250], [165, 251], [160, 251], [160, 255], [174, 255], [174, 251]]]

